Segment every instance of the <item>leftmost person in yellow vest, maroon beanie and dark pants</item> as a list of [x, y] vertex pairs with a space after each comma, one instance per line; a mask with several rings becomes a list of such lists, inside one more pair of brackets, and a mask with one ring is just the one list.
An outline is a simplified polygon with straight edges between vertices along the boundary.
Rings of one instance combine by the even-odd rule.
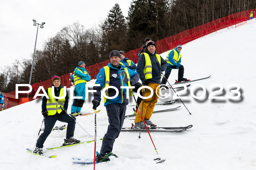
[[[66, 90], [66, 96], [64, 98], [55, 99], [54, 96], [64, 96], [64, 88], [60, 84], [61, 80], [59, 76], [53, 76], [52, 83], [52, 86], [46, 89], [49, 99], [47, 99], [46, 96], [44, 96], [42, 99], [42, 115], [44, 116], [45, 128], [44, 133], [42, 133], [38, 138], [34, 150], [34, 153], [39, 155], [43, 154], [42, 148], [44, 147], [44, 142], [48, 135], [52, 132], [54, 124], [57, 120], [68, 123], [66, 139], [64, 139], [63, 145], [71, 145], [80, 142], [73, 137], [76, 124], [75, 120], [60, 109], [60, 106], [62, 106], [66, 111], [68, 109], [68, 92]], [[52, 93], [52, 89], [54, 89], [54, 94]], [[75, 116], [71, 116], [76, 119]]]

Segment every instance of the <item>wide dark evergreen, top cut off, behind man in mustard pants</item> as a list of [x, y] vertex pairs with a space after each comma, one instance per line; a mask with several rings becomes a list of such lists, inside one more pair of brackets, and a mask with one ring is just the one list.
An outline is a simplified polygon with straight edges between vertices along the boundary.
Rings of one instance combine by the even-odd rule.
[[133, 0], [128, 12], [129, 49], [141, 47], [145, 37], [153, 41], [167, 35], [167, 0]]

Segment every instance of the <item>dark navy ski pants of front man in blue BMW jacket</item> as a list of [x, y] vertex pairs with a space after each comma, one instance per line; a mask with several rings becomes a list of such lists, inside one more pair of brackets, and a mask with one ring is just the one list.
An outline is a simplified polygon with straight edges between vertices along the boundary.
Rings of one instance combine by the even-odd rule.
[[112, 152], [114, 141], [119, 136], [124, 123], [126, 104], [108, 104], [106, 110], [109, 117], [109, 126], [102, 141], [100, 153], [103, 155]]

